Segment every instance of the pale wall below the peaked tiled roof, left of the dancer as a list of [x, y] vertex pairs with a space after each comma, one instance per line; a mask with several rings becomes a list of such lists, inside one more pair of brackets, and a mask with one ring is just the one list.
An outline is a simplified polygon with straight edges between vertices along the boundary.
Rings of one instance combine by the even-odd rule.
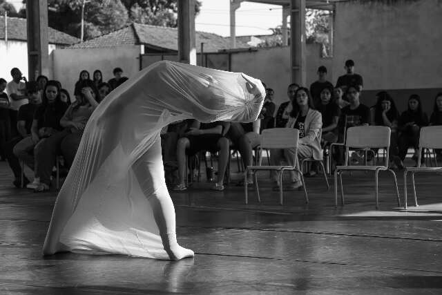
[[55, 79], [73, 97], [75, 82], [81, 70], [88, 70], [92, 78], [94, 70], [101, 70], [103, 81], [113, 78], [113, 69], [123, 69], [123, 75], [131, 77], [140, 70], [140, 46], [115, 48], [57, 49], [52, 53], [52, 72]]

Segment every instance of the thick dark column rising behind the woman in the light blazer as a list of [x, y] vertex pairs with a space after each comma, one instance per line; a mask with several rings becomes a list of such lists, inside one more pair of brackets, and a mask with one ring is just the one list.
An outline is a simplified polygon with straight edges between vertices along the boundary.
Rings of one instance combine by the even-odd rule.
[[291, 82], [302, 86], [306, 85], [305, 39], [305, 0], [291, 0]]

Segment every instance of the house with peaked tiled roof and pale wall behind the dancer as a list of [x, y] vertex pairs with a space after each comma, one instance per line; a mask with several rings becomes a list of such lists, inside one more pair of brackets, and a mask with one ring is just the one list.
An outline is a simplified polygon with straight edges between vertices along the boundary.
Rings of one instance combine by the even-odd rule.
[[[195, 39], [197, 53], [201, 51], [201, 44], [204, 53], [215, 55], [220, 51], [231, 49], [229, 39], [213, 33], [197, 31]], [[242, 42], [238, 42], [237, 46], [242, 50], [250, 47]], [[52, 68], [54, 77], [59, 79], [64, 88], [73, 93], [81, 70], [88, 70], [91, 75], [94, 70], [101, 70], [103, 80], [108, 81], [113, 78], [113, 68], [119, 67], [123, 69], [123, 75], [130, 78], [155, 61], [177, 60], [177, 51], [176, 28], [131, 23], [95, 39], [74, 44], [69, 48], [54, 50]], [[213, 58], [213, 62], [217, 63], [218, 60]], [[222, 67], [223, 63], [225, 59], [220, 60], [216, 68]]]

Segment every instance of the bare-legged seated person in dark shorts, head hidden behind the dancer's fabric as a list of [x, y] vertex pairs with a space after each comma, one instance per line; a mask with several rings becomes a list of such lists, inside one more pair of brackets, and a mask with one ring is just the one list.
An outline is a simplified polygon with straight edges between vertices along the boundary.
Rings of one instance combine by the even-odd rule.
[[229, 162], [230, 144], [224, 135], [229, 131], [228, 122], [200, 123], [196, 120], [190, 125], [189, 130], [184, 133], [184, 137], [178, 140], [177, 160], [180, 183], [173, 189], [174, 191], [184, 191], [186, 173], [186, 151], [188, 155], [194, 155], [198, 151], [219, 151], [218, 158], [218, 180], [212, 190], [224, 190], [224, 174]]

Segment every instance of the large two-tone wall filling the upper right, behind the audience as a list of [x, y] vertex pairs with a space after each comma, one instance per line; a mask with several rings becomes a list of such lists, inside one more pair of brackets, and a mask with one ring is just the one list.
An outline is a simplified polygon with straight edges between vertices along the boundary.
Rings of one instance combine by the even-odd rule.
[[442, 87], [442, 1], [348, 1], [336, 3], [333, 74], [354, 59], [363, 76], [363, 102], [387, 90], [406, 108], [412, 93], [427, 112]]

